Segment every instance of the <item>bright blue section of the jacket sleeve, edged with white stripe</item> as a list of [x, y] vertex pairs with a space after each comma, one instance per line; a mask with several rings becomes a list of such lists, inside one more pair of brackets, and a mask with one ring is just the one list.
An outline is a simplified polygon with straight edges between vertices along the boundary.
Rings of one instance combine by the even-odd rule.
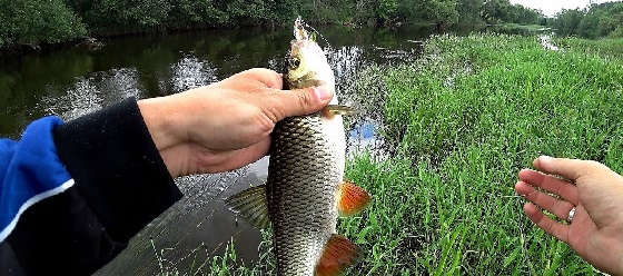
[[73, 185], [53, 142], [52, 130], [61, 124], [46, 117], [28, 126], [20, 140], [0, 140], [0, 243], [27, 208]]

